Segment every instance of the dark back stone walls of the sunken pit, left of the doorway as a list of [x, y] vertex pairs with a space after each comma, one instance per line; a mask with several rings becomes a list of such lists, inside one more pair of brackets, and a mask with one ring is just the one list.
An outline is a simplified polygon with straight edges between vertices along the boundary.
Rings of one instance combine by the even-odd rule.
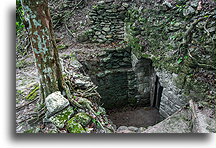
[[129, 47], [104, 51], [98, 60], [81, 62], [98, 86], [103, 106], [149, 106], [151, 62], [136, 59]]

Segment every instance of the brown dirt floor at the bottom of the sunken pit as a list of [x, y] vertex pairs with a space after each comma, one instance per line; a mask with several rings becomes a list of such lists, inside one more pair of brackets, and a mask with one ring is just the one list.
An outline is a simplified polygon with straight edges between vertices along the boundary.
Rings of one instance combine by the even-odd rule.
[[117, 126], [148, 127], [162, 120], [158, 110], [152, 107], [125, 107], [107, 112], [108, 118]]

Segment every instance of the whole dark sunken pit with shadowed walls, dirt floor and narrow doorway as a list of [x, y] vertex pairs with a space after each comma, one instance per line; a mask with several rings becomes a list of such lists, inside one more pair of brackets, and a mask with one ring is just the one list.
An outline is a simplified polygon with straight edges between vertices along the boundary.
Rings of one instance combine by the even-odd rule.
[[[105, 63], [85, 62], [85, 67], [90, 67], [86, 68], [87, 73], [93, 83], [98, 86], [97, 91], [102, 97], [100, 103], [106, 109], [108, 118], [117, 128], [120, 126], [153, 126], [162, 119], [159, 107], [163, 87], [156, 76], [154, 82], [150, 81], [155, 73], [149, 59], [142, 59], [132, 67], [131, 55], [126, 53], [112, 51], [109, 53], [112, 58], [104, 59], [103, 57], [100, 60], [106, 61]], [[92, 68], [94, 66], [95, 69]], [[152, 83], [155, 84], [152, 85]], [[148, 89], [153, 89], [152, 97]]]

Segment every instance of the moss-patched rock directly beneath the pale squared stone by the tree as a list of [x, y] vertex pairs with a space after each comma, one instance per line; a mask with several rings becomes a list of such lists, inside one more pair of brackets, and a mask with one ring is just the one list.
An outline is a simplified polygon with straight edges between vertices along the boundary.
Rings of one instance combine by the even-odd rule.
[[63, 128], [64, 124], [70, 117], [74, 114], [73, 107], [69, 106], [67, 109], [62, 112], [52, 116], [50, 121], [58, 128]]

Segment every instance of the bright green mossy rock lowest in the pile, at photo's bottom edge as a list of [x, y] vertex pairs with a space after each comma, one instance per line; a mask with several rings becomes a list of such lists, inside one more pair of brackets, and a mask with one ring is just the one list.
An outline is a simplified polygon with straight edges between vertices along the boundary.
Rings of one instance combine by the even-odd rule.
[[80, 123], [75, 122], [73, 119], [67, 122], [66, 129], [69, 133], [85, 133], [85, 129]]

